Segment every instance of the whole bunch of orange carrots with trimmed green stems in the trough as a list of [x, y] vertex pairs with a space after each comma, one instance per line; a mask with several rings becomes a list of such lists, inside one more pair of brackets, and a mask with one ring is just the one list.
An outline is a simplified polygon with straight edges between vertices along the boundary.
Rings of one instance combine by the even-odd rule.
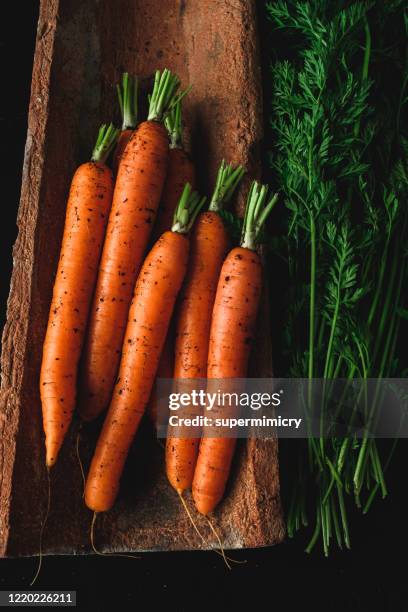
[[[179, 88], [176, 75], [157, 71], [138, 124], [137, 80], [124, 74], [122, 130], [100, 128], [68, 197], [40, 375], [46, 465], [56, 463], [75, 408], [83, 421], [106, 412], [85, 486], [95, 513], [115, 502], [146, 410], [155, 419], [156, 377], [247, 373], [262, 290], [257, 246], [276, 196], [252, 183], [241, 245], [231, 250], [222, 211], [244, 169], [222, 162], [204, 211], [183, 148]], [[207, 515], [223, 497], [235, 440], [178, 433], [168, 432], [169, 482], [179, 495], [192, 489]]]

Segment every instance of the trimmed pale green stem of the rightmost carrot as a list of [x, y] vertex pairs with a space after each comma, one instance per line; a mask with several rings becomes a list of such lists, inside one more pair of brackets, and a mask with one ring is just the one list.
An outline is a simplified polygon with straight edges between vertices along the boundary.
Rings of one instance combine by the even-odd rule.
[[278, 194], [267, 201], [268, 186], [253, 181], [249, 190], [242, 227], [241, 246], [255, 251], [261, 238], [262, 228], [278, 200]]

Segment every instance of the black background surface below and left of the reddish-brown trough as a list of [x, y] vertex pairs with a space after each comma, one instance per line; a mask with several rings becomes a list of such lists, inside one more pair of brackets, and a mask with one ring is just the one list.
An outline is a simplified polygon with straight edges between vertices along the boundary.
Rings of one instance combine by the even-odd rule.
[[[11, 7], [3, 20], [1, 99], [1, 164], [3, 197], [0, 222], [0, 327], [5, 319], [16, 238], [16, 213], [27, 129], [31, 69], [38, 2], [25, 0]], [[7, 30], [7, 31], [6, 31]], [[268, 62], [268, 31], [260, 20], [263, 70]], [[4, 94], [4, 91], [7, 94]], [[267, 97], [267, 96], [265, 96]], [[265, 106], [268, 101], [265, 99]], [[267, 143], [265, 143], [265, 151]], [[290, 475], [291, 441], [280, 445], [281, 481]], [[352, 551], [303, 552], [305, 535], [275, 548], [232, 553], [246, 560], [229, 571], [215, 553], [145, 553], [140, 559], [97, 556], [46, 557], [35, 588], [75, 589], [81, 609], [127, 610], [164, 603], [169, 610], [212, 607], [252, 608], [295, 605], [303, 609], [408, 610], [406, 550], [406, 444], [401, 443], [388, 472], [389, 497], [377, 501], [366, 517], [350, 514]], [[37, 560], [0, 560], [0, 589], [28, 589]], [[240, 605], [241, 604], [241, 605]]]

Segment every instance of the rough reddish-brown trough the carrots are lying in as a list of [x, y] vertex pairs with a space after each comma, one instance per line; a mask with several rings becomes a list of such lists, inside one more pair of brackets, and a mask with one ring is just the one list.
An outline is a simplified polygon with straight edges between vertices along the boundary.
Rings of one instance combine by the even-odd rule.
[[[262, 109], [254, 2], [42, 0], [2, 345], [0, 555], [38, 553], [47, 495], [38, 377], [72, 173], [89, 157], [97, 126], [112, 117], [120, 73], [140, 75], [147, 87], [153, 71], [164, 67], [193, 85], [185, 119], [200, 189], [208, 193], [223, 157], [258, 175]], [[266, 299], [261, 319], [251, 369], [270, 376]], [[99, 426], [81, 433], [85, 466]], [[77, 432], [74, 421], [52, 472], [46, 554], [90, 549]], [[282, 540], [276, 440], [238, 445], [214, 523], [227, 548]], [[205, 522], [199, 524], [206, 546], [216, 546]], [[148, 423], [131, 450], [118, 502], [98, 517], [96, 543], [105, 551], [205, 548], [166, 482], [163, 450]]]

